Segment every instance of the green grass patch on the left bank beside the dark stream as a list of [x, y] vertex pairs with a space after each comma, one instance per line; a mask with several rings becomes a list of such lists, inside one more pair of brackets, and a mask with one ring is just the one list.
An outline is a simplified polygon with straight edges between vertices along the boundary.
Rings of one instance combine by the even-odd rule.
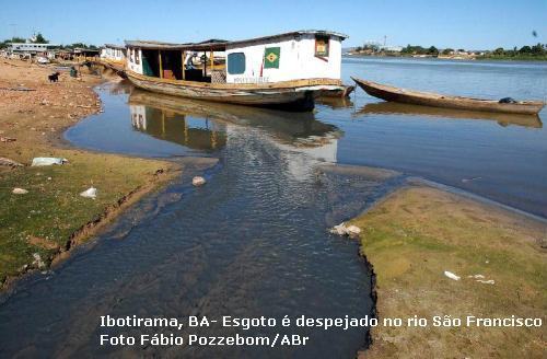
[[[173, 166], [163, 161], [70, 150], [56, 151], [56, 155], [70, 163], [0, 172], [0, 282], [32, 264], [33, 253], [48, 262], [58, 252], [56, 245], [65, 247], [72, 233], [105, 208], [150, 183], [156, 170]], [[96, 199], [79, 195], [90, 186], [97, 188]], [[14, 195], [14, 187], [28, 194]], [[40, 240], [31, 243], [31, 238]]]

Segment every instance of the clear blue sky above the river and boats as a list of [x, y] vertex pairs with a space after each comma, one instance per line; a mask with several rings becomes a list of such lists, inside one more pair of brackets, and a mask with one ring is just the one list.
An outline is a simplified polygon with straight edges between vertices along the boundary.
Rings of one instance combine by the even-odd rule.
[[513, 48], [547, 43], [547, 0], [10, 0], [0, 7], [0, 39], [40, 32], [55, 44], [244, 39], [294, 30], [347, 34], [344, 47], [385, 36], [391, 46]]

